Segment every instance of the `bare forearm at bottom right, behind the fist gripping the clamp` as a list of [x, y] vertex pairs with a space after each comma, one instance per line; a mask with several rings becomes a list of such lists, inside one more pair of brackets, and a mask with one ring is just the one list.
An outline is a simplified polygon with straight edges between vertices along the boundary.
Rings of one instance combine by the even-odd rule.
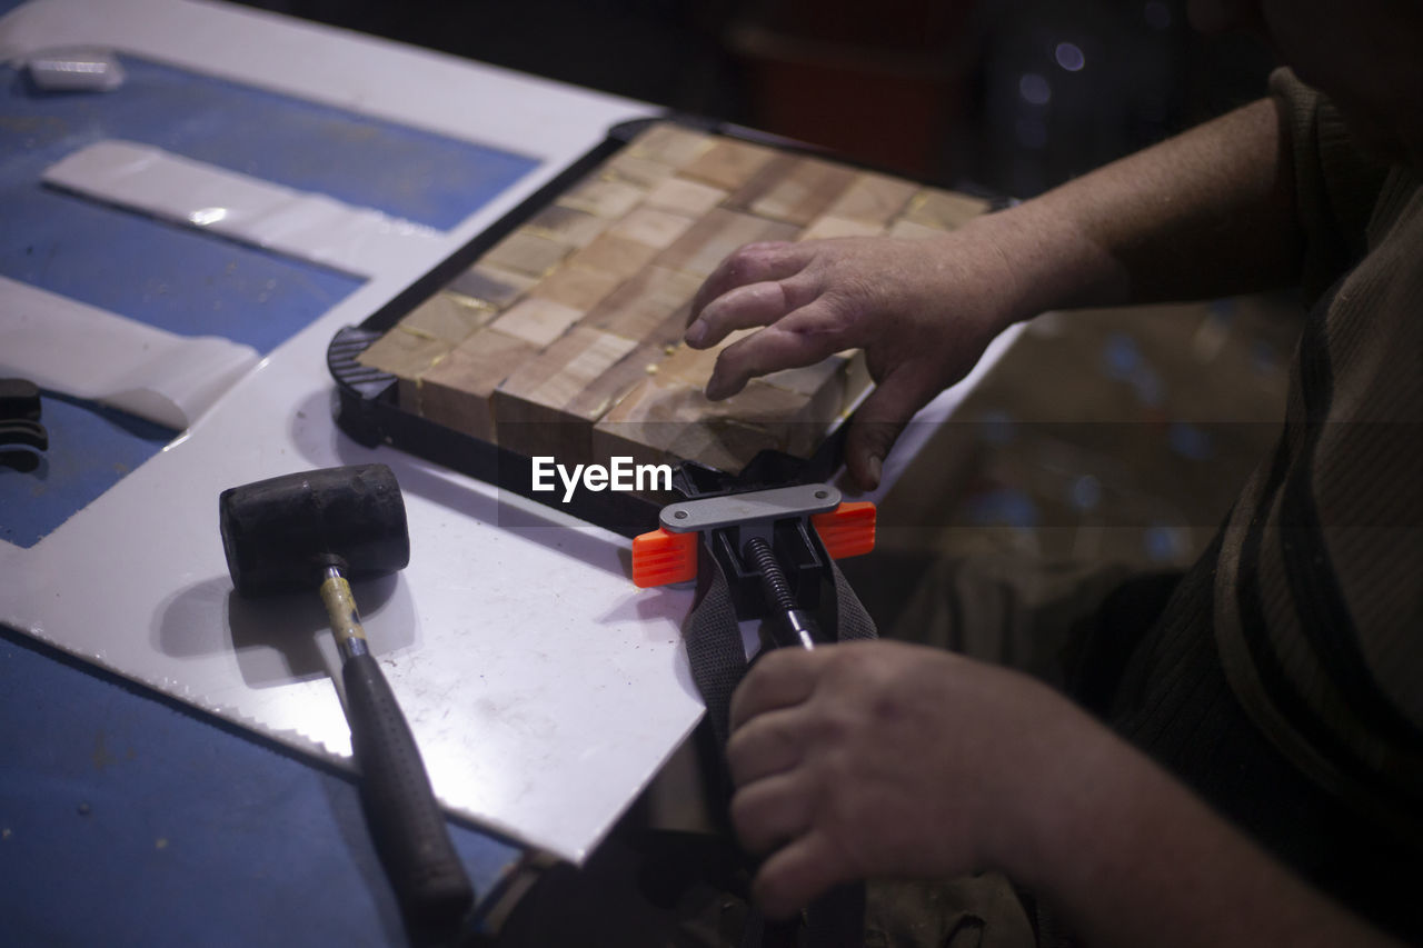
[[1393, 945], [1118, 739], [1096, 733], [1010, 823], [1005, 865], [1087, 944]]

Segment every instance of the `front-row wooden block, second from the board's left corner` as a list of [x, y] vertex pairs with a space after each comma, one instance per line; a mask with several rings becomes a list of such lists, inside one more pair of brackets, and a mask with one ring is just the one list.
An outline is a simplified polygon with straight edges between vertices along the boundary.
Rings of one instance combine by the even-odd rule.
[[420, 414], [447, 428], [494, 441], [494, 390], [535, 352], [522, 339], [481, 329], [420, 376]]

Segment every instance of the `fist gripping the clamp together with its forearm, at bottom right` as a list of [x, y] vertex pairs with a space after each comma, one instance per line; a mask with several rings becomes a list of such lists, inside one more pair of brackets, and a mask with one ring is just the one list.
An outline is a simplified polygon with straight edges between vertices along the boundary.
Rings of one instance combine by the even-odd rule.
[[1030, 678], [898, 642], [763, 658], [731, 699], [731, 821], [787, 917], [869, 877], [1000, 870], [1089, 944], [1392, 945]]

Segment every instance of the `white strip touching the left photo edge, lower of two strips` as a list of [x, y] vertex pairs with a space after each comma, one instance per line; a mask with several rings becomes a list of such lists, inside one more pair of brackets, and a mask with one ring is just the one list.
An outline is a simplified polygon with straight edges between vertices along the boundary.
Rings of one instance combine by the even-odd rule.
[[216, 336], [178, 336], [0, 278], [0, 374], [184, 430], [258, 364]]

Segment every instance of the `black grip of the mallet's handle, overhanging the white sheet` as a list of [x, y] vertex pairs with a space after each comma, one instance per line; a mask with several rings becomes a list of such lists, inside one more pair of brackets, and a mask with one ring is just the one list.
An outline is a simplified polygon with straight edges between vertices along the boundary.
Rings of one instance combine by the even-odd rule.
[[342, 680], [366, 823], [406, 921], [421, 931], [453, 932], [470, 911], [474, 888], [450, 843], [416, 737], [374, 656], [347, 658]]

